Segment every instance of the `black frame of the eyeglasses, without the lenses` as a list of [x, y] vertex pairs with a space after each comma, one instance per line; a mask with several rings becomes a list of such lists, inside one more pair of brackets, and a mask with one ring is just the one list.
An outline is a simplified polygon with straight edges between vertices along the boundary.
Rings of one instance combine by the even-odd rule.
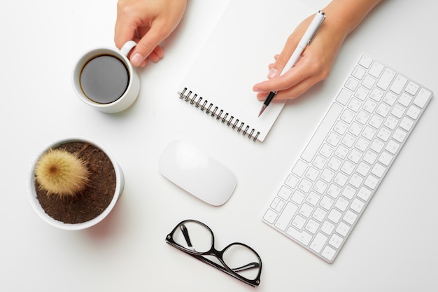
[[[176, 232], [176, 230], [178, 230], [178, 228], [180, 227], [184, 227], [185, 225], [184, 223], [187, 222], [193, 222], [193, 223], [198, 223], [202, 226], [204, 226], [207, 230], [209, 230], [209, 232], [211, 233], [211, 248], [209, 251], [192, 251], [190, 249], [186, 249], [184, 246], [181, 246], [180, 244], [176, 243], [174, 241], [174, 238], [172, 235], [174, 235], [174, 233]], [[187, 228], [185, 228], [185, 230], [181, 230], [183, 232], [183, 235], [185, 237], [185, 240], [188, 244], [190, 244], [190, 238], [188, 238], [188, 232], [187, 232]], [[178, 223], [175, 228], [166, 236], [166, 242], [168, 244], [170, 244], [171, 246], [174, 246], [176, 249], [179, 249], [180, 251], [183, 251], [185, 253], [187, 253], [188, 255], [197, 258], [198, 260], [201, 260], [204, 263], [207, 263], [209, 265], [211, 265], [212, 267], [216, 267], [216, 269], [221, 270], [222, 272], [225, 272], [226, 274], [229, 274], [230, 276], [239, 279], [240, 281], [243, 281], [244, 283], [250, 285], [250, 286], [259, 286], [260, 284], [260, 275], [262, 274], [262, 258], [260, 258], [259, 254], [257, 253], [257, 251], [255, 251], [252, 247], [243, 244], [241, 242], [233, 242], [231, 244], [228, 244], [227, 246], [225, 246], [224, 249], [222, 249], [222, 251], [218, 251], [215, 247], [215, 237], [213, 234], [213, 231], [211, 230], [211, 228], [209, 228], [209, 226], [207, 226], [206, 224], [197, 221], [197, 220], [193, 220], [193, 219], [187, 219], [184, 221], [181, 221], [180, 223]], [[223, 260], [223, 253], [225, 251], [227, 251], [227, 249], [229, 249], [230, 246], [233, 245], [241, 245], [241, 246], [245, 246], [247, 249], [249, 249], [250, 251], [253, 251], [253, 253], [255, 253], [255, 256], [257, 256], [257, 259], [259, 261], [259, 263], [248, 263], [248, 265], [245, 265], [243, 267], [239, 267], [239, 269], [242, 269], [244, 267], [250, 267], [250, 265], [254, 265], [254, 267], [259, 267], [258, 273], [257, 273], [257, 277], [255, 277], [255, 279], [247, 279], [246, 277], [241, 276], [240, 274], [237, 274], [231, 267], [229, 267], [226, 263], [225, 260]], [[213, 262], [212, 260], [209, 260], [208, 258], [204, 258], [204, 256], [215, 256], [222, 265], [218, 265], [218, 263]], [[257, 264], [257, 265], [255, 265]]]

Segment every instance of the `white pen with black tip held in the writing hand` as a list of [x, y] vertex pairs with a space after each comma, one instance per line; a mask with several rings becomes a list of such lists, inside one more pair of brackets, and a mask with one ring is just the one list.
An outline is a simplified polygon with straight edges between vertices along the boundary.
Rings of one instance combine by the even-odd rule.
[[[313, 37], [318, 32], [318, 29], [323, 25], [323, 21], [325, 20], [325, 13], [323, 11], [318, 11], [316, 13], [315, 17], [313, 18], [311, 24], [307, 28], [306, 32], [304, 32], [303, 37], [298, 43], [297, 48], [295, 48], [294, 52], [292, 53], [292, 56], [290, 56], [288, 63], [286, 63], [283, 71], [288, 71], [290, 68], [295, 66], [295, 63], [297, 63], [299, 57], [303, 53], [304, 48], [306, 46], [309, 46], [311, 43]], [[281, 74], [281, 72], [280, 72]], [[259, 113], [259, 116], [263, 113], [263, 111], [269, 106], [272, 99], [274, 99], [274, 96], [277, 94], [276, 91], [269, 92], [269, 95], [266, 99], [264, 99], [262, 110]]]

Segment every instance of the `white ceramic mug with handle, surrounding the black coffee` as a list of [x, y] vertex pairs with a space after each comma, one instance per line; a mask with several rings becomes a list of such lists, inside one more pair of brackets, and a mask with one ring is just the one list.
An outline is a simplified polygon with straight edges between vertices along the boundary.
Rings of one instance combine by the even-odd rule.
[[[72, 75], [73, 89], [79, 99], [105, 113], [116, 113], [131, 106], [140, 90], [139, 74], [127, 58], [134, 46], [135, 41], [127, 41], [120, 50], [101, 47], [83, 53]], [[98, 59], [100, 63], [97, 63]], [[115, 97], [108, 96], [106, 100], [99, 95]]]

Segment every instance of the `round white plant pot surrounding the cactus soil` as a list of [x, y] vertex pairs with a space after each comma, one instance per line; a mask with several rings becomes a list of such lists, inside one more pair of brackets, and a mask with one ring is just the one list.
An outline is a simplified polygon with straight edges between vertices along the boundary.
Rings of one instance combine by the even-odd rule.
[[[45, 213], [44, 209], [41, 207], [40, 202], [38, 201], [38, 198], [36, 197], [36, 190], [35, 190], [35, 185], [34, 185], [34, 179], [35, 179], [34, 168], [35, 168], [36, 162], [39, 160], [41, 155], [43, 155], [45, 152], [47, 152], [50, 148], [57, 148], [58, 146], [61, 146], [62, 144], [69, 143], [69, 142], [86, 142], [86, 143], [92, 144], [93, 146], [101, 149], [101, 151], [104, 151], [104, 153], [111, 160], [113, 167], [114, 167], [114, 171], [115, 171], [116, 184], [115, 184], [115, 192], [113, 195], [113, 200], [111, 200], [108, 207], [106, 207], [106, 209], [101, 214], [99, 214], [99, 216], [91, 219], [90, 221], [86, 221], [83, 223], [71, 224], [71, 223], [64, 223], [62, 221], [55, 220], [54, 218], [50, 217], [48, 214]], [[38, 157], [35, 159], [34, 163], [31, 165], [31, 169], [30, 169], [29, 176], [27, 179], [27, 184], [28, 184], [28, 188], [29, 188], [28, 194], [29, 194], [29, 200], [30, 200], [31, 206], [36, 211], [36, 214], [38, 214], [38, 216], [40, 216], [43, 219], [43, 221], [49, 223], [52, 226], [55, 226], [57, 228], [64, 229], [64, 230], [81, 230], [81, 229], [90, 228], [91, 226], [96, 225], [100, 221], [104, 220], [104, 218], [106, 216], [108, 216], [108, 214], [111, 212], [111, 210], [115, 206], [115, 203], [118, 201], [118, 198], [120, 197], [120, 195], [122, 195], [123, 188], [125, 187], [125, 177], [123, 176], [122, 169], [115, 161], [113, 155], [111, 155], [111, 153], [104, 146], [97, 143], [97, 141], [94, 141], [94, 140], [87, 138], [87, 137], [66, 137], [64, 139], [59, 139], [57, 141], [54, 141], [52, 144], [48, 145], [46, 148], [43, 149], [43, 151], [41, 151], [38, 154]]]

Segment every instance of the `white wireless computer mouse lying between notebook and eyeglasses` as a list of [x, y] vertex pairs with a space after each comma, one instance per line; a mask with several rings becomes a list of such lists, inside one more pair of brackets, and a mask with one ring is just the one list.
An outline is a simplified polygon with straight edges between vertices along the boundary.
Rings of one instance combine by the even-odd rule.
[[184, 141], [171, 141], [158, 162], [160, 172], [200, 200], [219, 206], [236, 188], [236, 176], [218, 160]]

